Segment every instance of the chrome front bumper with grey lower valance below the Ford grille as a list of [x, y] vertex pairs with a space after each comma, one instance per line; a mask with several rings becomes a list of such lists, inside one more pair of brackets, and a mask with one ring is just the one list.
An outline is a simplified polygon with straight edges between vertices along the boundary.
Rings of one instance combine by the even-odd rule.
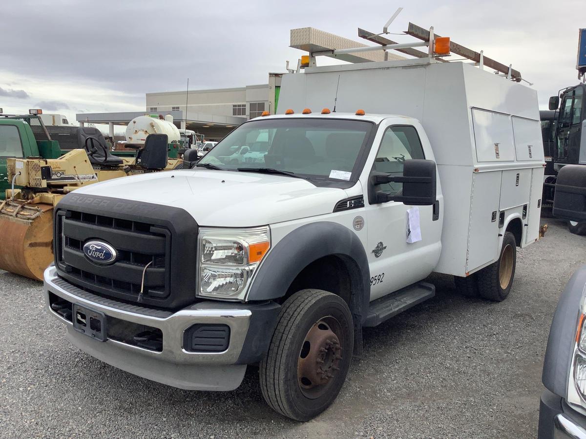
[[[246, 364], [236, 362], [250, 326], [250, 310], [226, 309], [206, 301], [175, 313], [153, 313], [149, 308], [129, 306], [80, 290], [57, 277], [53, 265], [45, 270], [44, 281], [43, 290], [49, 314], [67, 325], [69, 341], [101, 361], [181, 389], [233, 390], [240, 385]], [[69, 320], [52, 310], [49, 292], [71, 303], [100, 311], [108, 317], [159, 328], [163, 334], [162, 351], [151, 351], [114, 339], [101, 342], [81, 334]], [[214, 306], [217, 308], [214, 309]], [[228, 325], [228, 348], [223, 352], [188, 352], [183, 349], [183, 332], [197, 323]]]

